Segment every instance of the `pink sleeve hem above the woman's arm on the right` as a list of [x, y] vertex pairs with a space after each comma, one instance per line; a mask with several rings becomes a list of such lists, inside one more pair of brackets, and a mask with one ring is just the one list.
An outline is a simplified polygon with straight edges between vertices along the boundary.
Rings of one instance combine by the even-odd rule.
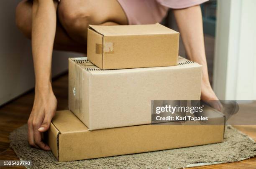
[[191, 7], [199, 5], [208, 0], [157, 0], [161, 5], [172, 8], [172, 9], [182, 9], [186, 7]]

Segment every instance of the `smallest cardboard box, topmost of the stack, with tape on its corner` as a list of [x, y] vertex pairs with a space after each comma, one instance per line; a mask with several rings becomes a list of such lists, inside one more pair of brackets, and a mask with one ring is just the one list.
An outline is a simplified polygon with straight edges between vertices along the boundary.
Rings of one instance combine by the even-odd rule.
[[154, 25], [89, 25], [87, 57], [103, 70], [177, 65], [179, 32]]

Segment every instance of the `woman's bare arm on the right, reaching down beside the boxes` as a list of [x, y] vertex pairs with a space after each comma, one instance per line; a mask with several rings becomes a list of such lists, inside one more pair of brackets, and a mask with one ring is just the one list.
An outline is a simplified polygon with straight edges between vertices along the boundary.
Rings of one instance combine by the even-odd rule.
[[[202, 65], [201, 99], [205, 101], [218, 100], [209, 82], [200, 6], [197, 5], [173, 11], [187, 56], [190, 60]], [[215, 108], [220, 110], [221, 105], [218, 106]]]

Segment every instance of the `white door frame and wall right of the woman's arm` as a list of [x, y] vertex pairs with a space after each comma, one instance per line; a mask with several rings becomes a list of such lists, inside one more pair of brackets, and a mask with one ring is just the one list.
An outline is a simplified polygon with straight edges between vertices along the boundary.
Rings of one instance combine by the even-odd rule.
[[220, 99], [256, 99], [256, 0], [218, 0], [213, 88]]

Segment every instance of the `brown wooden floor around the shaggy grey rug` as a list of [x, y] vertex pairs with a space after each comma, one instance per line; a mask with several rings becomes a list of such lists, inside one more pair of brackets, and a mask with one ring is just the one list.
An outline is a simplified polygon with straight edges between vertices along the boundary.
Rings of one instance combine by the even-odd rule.
[[[53, 89], [58, 99], [57, 110], [68, 108], [68, 75], [67, 73], [53, 81]], [[33, 106], [34, 92], [28, 92], [18, 99], [0, 107], [0, 160], [18, 160], [15, 152], [9, 147], [8, 136], [15, 128], [26, 124], [28, 116]], [[239, 126], [242, 132], [248, 134], [256, 140], [256, 126]], [[241, 162], [227, 164], [217, 164], [205, 167], [195, 167], [194, 169], [221, 169], [221, 168], [256, 168], [256, 157], [246, 159]], [[3, 168], [3, 167], [2, 167]], [[22, 167], [15, 167], [22, 168]]]

